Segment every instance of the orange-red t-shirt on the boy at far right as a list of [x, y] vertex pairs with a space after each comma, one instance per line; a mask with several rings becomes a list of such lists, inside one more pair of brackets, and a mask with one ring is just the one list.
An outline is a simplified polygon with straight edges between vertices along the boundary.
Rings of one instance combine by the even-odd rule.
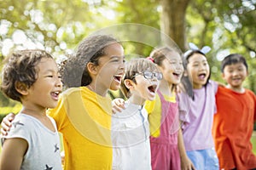
[[218, 87], [216, 104], [212, 135], [220, 169], [256, 168], [256, 156], [250, 142], [256, 120], [255, 94], [248, 89], [240, 94]]

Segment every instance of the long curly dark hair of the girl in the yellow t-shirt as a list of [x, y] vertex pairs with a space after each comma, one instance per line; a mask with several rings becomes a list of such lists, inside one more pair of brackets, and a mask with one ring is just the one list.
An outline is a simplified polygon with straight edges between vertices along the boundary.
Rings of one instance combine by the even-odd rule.
[[118, 42], [108, 35], [86, 37], [80, 42], [75, 55], [70, 56], [61, 64], [62, 82], [67, 88], [87, 86], [91, 82], [87, 64], [98, 65], [98, 60], [106, 55], [105, 48]]

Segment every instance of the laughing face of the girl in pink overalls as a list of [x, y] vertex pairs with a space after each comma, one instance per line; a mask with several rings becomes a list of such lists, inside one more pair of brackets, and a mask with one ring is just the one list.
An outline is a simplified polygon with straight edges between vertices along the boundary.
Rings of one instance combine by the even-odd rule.
[[175, 51], [166, 54], [166, 59], [164, 59], [160, 65], [160, 71], [163, 73], [166, 82], [178, 84], [181, 81], [184, 71], [183, 60], [180, 54]]

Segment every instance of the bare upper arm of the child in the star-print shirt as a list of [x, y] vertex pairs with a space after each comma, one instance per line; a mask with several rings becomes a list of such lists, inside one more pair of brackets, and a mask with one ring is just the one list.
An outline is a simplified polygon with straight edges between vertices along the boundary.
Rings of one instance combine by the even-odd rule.
[[1, 170], [18, 170], [21, 167], [23, 156], [26, 154], [28, 144], [25, 139], [5, 139], [0, 158]]

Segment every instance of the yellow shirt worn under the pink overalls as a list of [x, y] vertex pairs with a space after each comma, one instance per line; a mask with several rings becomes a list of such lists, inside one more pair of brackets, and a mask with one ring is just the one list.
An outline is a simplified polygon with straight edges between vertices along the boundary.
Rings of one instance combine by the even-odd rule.
[[[176, 95], [172, 93], [172, 96], [163, 94], [166, 101], [176, 103]], [[160, 125], [161, 125], [161, 101], [160, 96], [157, 94], [153, 101], [147, 100], [145, 102], [145, 109], [148, 111], [148, 122], [150, 128], [150, 136], [157, 138], [160, 136]]]

